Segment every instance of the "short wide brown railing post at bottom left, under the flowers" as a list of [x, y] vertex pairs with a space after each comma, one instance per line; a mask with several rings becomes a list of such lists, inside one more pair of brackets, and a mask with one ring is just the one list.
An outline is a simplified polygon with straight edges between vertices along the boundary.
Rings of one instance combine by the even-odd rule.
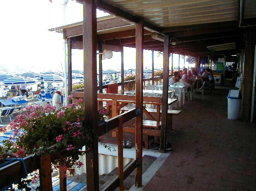
[[40, 157], [39, 180], [42, 191], [52, 191], [52, 165], [50, 155]]

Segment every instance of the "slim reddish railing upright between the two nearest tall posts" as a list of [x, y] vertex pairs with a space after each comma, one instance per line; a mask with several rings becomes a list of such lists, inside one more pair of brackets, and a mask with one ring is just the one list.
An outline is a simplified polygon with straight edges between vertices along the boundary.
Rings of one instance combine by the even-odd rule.
[[118, 125], [118, 191], [124, 189], [124, 161], [123, 161], [123, 117], [119, 117]]

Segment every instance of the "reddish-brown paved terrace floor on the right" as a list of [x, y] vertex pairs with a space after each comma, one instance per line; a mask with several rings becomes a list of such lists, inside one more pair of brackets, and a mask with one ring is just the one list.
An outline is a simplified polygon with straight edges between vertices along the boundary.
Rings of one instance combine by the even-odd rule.
[[227, 95], [186, 102], [168, 136], [174, 151], [144, 191], [256, 190], [256, 124], [228, 120]]

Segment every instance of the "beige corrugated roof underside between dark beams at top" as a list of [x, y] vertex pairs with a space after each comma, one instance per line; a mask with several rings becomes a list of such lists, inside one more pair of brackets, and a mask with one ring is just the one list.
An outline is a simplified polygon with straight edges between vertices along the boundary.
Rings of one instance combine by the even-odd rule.
[[237, 0], [103, 0], [159, 27], [237, 20]]

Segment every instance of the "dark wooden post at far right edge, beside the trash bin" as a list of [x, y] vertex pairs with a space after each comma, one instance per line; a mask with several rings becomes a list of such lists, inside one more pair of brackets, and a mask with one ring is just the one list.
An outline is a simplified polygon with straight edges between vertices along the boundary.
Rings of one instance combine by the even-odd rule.
[[251, 119], [255, 43], [256, 31], [253, 29], [246, 30], [241, 108], [244, 121]]

